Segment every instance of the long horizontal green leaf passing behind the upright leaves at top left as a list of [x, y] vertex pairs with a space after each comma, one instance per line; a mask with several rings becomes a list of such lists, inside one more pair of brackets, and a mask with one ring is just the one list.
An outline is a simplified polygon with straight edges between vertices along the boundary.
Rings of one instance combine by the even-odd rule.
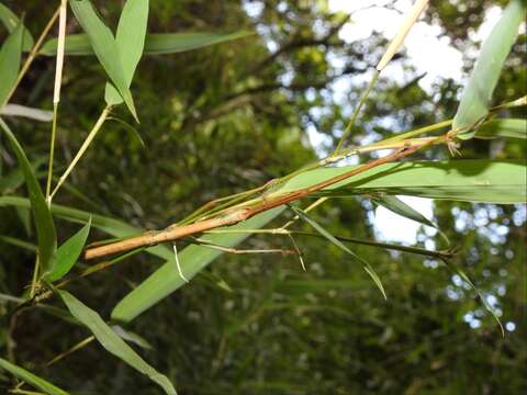
[[[233, 33], [150, 33], [146, 35], [144, 55], [177, 54], [193, 50], [211, 45], [216, 45], [233, 40], [253, 35], [253, 32]], [[66, 55], [85, 56], [94, 55], [90, 41], [86, 34], [70, 34], [66, 36]], [[47, 41], [40, 54], [55, 56], [57, 53], [57, 38]]]

